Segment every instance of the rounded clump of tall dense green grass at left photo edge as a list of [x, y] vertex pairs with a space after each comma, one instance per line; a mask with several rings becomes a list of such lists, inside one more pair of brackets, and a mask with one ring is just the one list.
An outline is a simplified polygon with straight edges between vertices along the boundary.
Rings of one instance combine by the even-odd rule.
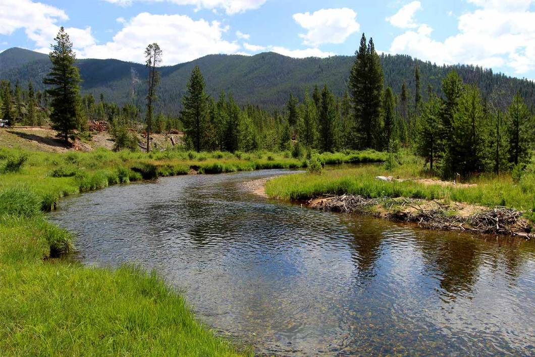
[[0, 215], [33, 217], [39, 214], [41, 200], [26, 187], [12, 187], [0, 192]]

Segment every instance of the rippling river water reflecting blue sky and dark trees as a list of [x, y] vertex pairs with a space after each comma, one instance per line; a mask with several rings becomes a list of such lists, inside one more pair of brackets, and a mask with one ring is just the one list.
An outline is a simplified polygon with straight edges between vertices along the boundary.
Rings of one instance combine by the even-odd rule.
[[258, 171], [62, 201], [87, 264], [137, 262], [261, 354], [515, 354], [535, 346], [535, 244], [281, 204]]

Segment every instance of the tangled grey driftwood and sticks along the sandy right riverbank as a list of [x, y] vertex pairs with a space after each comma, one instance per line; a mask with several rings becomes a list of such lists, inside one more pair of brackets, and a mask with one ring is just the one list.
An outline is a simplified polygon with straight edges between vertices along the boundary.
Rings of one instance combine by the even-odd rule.
[[[422, 207], [424, 202], [434, 202], [433, 208]], [[368, 199], [360, 195], [330, 196], [310, 200], [312, 208], [322, 210], [372, 214], [393, 221], [414, 222], [419, 226], [435, 230], [468, 231], [480, 234], [505, 234], [509, 236], [535, 238], [525, 211], [497, 206], [494, 209], [477, 212], [468, 217], [448, 215], [449, 204], [438, 201], [422, 201], [407, 198]], [[387, 212], [373, 210], [382, 206]], [[394, 209], [395, 208], [395, 209]]]

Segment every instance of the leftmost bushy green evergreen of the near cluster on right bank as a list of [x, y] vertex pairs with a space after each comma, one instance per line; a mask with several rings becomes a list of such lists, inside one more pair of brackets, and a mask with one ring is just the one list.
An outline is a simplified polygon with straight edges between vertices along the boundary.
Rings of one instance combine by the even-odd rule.
[[433, 172], [435, 160], [441, 149], [439, 136], [441, 104], [436, 95], [432, 94], [424, 105], [422, 115], [416, 122], [415, 149], [418, 155], [430, 163]]

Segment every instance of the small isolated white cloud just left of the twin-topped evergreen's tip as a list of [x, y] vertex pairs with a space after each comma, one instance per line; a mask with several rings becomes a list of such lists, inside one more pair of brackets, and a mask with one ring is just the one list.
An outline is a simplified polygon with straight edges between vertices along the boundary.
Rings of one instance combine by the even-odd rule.
[[317, 46], [322, 43], [343, 43], [347, 37], [357, 32], [360, 25], [356, 21], [357, 13], [347, 7], [343, 9], [322, 9], [314, 13], [296, 13], [293, 18], [304, 29], [300, 34], [303, 43]]

